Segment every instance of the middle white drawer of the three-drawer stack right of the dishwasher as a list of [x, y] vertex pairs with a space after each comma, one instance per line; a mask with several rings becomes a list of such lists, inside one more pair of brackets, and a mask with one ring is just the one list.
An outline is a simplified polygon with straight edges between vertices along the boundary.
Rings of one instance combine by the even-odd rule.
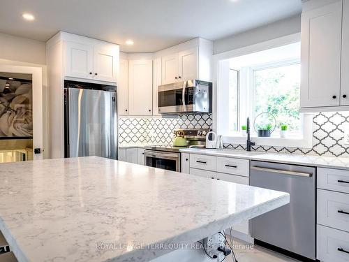
[[349, 194], [318, 189], [318, 224], [349, 232]]

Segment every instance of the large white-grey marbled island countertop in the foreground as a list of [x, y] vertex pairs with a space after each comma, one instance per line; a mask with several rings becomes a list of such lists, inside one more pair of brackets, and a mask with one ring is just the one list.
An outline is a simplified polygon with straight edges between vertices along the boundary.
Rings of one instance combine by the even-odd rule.
[[[0, 231], [22, 261], [149, 261], [287, 193], [100, 157], [3, 163]], [[185, 182], [184, 182], [185, 181]]]

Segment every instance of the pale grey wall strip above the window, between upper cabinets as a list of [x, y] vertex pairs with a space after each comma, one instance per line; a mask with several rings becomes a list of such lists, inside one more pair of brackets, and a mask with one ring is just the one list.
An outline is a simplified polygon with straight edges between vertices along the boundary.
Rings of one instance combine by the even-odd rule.
[[263, 27], [218, 39], [214, 41], [214, 54], [262, 43], [282, 36], [299, 33], [300, 31], [301, 16], [289, 17], [285, 20], [267, 24]]

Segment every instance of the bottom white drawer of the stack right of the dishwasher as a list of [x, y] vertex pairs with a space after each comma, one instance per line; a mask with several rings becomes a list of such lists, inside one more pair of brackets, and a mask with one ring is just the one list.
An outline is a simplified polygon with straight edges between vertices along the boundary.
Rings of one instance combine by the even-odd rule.
[[318, 254], [322, 262], [349, 261], [349, 233], [318, 225]]

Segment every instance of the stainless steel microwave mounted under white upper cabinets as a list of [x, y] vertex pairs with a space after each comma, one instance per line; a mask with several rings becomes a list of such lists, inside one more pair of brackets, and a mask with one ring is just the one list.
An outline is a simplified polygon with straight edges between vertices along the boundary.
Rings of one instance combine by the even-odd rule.
[[188, 80], [158, 87], [161, 114], [200, 114], [212, 112], [212, 83]]

